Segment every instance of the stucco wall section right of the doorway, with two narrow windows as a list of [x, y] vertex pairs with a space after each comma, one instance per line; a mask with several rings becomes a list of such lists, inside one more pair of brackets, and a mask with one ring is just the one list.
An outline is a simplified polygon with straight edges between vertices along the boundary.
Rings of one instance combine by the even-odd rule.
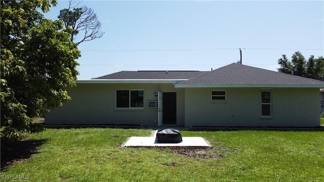
[[[211, 90], [227, 101], [211, 101]], [[261, 117], [261, 90], [270, 90], [272, 116]], [[318, 88], [185, 88], [185, 126], [319, 126]]]

